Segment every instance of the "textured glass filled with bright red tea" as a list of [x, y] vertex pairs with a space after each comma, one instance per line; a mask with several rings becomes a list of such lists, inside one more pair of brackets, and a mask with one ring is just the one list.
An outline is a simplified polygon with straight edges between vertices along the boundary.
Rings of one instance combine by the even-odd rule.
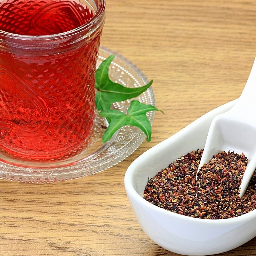
[[95, 118], [105, 0], [0, 0], [0, 148], [60, 159]]

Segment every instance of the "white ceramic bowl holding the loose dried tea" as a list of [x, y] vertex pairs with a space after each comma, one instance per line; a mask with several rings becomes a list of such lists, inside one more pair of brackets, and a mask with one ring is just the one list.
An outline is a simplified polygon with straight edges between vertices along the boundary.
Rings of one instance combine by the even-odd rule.
[[177, 132], [139, 156], [127, 169], [124, 185], [144, 232], [166, 250], [183, 255], [211, 255], [232, 250], [256, 236], [256, 210], [225, 220], [204, 220], [169, 212], [143, 199], [148, 177], [197, 148], [203, 149], [214, 116], [234, 105], [231, 101]]

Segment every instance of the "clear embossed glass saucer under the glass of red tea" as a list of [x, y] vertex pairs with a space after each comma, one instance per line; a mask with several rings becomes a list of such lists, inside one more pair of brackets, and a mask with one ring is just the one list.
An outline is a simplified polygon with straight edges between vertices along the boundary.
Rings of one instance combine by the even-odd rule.
[[[105, 47], [100, 47], [97, 67], [111, 54], [115, 55], [109, 68], [109, 77], [112, 81], [127, 87], [140, 87], [148, 83], [147, 77], [130, 60]], [[135, 99], [145, 104], [155, 105], [151, 87]], [[131, 100], [115, 103], [113, 108], [126, 111]], [[148, 112], [147, 117], [152, 124], [154, 112]], [[79, 152], [60, 160], [29, 161], [14, 158], [0, 151], [0, 179], [47, 183], [86, 177], [121, 162], [131, 155], [146, 138], [139, 128], [124, 126], [107, 143], [102, 143], [101, 138], [106, 126], [106, 120], [96, 114], [91, 138], [81, 146]]]

